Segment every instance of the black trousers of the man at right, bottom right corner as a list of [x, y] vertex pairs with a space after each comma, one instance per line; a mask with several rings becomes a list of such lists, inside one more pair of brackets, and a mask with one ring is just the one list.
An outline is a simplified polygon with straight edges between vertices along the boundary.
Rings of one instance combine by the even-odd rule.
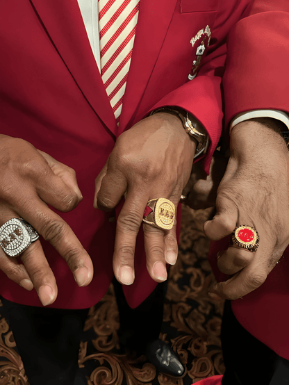
[[222, 385], [289, 384], [289, 361], [240, 325], [230, 301], [224, 307], [221, 338], [226, 366]]

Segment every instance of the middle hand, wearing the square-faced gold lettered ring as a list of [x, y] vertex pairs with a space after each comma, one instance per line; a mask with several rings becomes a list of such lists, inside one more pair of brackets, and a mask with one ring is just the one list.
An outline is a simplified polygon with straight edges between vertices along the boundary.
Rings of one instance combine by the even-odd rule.
[[[134, 281], [135, 240], [149, 199], [163, 197], [179, 203], [190, 177], [196, 149], [179, 117], [156, 113], [135, 124], [117, 139], [95, 182], [94, 207], [112, 210], [126, 200], [117, 219], [113, 269], [121, 284]], [[167, 279], [165, 263], [176, 262], [176, 225], [170, 231], [143, 223], [147, 270], [157, 282]]]

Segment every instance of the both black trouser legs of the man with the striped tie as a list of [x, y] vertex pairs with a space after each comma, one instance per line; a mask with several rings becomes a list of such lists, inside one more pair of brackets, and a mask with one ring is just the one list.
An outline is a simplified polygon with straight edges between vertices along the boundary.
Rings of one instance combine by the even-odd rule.
[[[136, 309], [127, 304], [115, 280], [119, 306], [120, 342], [129, 350], [145, 353], [147, 341], [158, 338], [163, 321], [166, 284], [156, 289]], [[89, 309], [51, 309], [15, 304], [1, 297], [4, 316], [13, 331], [30, 385], [86, 385], [76, 379], [79, 343]]]

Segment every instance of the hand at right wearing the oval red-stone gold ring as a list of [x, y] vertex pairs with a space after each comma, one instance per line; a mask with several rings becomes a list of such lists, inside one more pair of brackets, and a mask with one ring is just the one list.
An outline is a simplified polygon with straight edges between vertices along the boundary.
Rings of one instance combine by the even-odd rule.
[[229, 247], [218, 254], [218, 268], [232, 277], [210, 291], [229, 300], [261, 286], [289, 244], [289, 155], [277, 129], [271, 119], [233, 128], [231, 157], [217, 190], [217, 213], [204, 224], [211, 240], [231, 235], [242, 224], [255, 227], [260, 236], [256, 252]]

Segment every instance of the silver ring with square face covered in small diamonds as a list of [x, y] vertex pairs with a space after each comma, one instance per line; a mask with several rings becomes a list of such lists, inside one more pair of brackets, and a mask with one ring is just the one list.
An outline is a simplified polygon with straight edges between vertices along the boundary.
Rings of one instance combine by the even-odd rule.
[[22, 218], [10, 219], [0, 227], [0, 246], [8, 256], [19, 256], [38, 238], [38, 232]]

